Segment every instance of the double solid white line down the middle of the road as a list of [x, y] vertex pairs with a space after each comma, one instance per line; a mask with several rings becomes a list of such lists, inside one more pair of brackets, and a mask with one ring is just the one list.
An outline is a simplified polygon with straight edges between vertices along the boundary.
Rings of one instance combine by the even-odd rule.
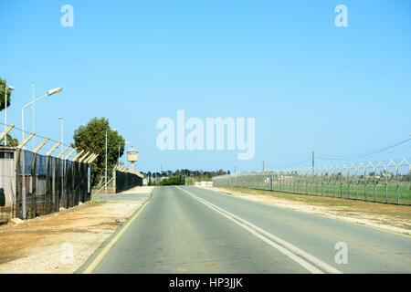
[[300, 264], [300, 266], [305, 267], [311, 273], [323, 274], [324, 272], [326, 272], [326, 273], [332, 273], [332, 274], [342, 274], [341, 271], [334, 268], [333, 266], [330, 266], [322, 262], [320, 259], [316, 258], [313, 255], [308, 254], [307, 252], [301, 250], [297, 246], [291, 245], [290, 243], [286, 242], [285, 240], [275, 235], [271, 235], [269, 232], [259, 228], [258, 226], [254, 224], [249, 223], [247, 220], [244, 220], [235, 214], [231, 214], [227, 212], [226, 210], [216, 206], [213, 203], [209, 203], [205, 199], [198, 197], [197, 195], [195, 195], [194, 193], [191, 193], [190, 191], [184, 190], [178, 186], [176, 186], [176, 188], [179, 189], [180, 191], [183, 191], [184, 193], [189, 194], [198, 202], [204, 203], [207, 207], [216, 211], [218, 214], [222, 214], [230, 221], [246, 229], [249, 233], [256, 235], [259, 239], [271, 245], [272, 247], [276, 248], [282, 254], [289, 256], [292, 260]]

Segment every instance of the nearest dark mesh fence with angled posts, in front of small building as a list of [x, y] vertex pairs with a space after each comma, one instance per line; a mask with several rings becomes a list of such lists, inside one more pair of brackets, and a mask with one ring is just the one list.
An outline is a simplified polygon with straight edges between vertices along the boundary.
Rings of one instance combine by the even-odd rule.
[[[0, 222], [34, 218], [90, 200], [90, 164], [13, 147], [0, 153]], [[7, 156], [8, 160], [5, 159]], [[26, 215], [25, 215], [26, 214]]]

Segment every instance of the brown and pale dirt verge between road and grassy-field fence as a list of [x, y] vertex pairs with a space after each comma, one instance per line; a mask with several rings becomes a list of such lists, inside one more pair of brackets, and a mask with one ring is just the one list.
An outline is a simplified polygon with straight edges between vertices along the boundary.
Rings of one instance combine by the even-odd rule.
[[401, 235], [411, 235], [411, 206], [295, 193], [277, 193], [246, 188], [198, 187], [254, 202], [267, 203], [309, 214], [318, 214], [355, 224], [364, 224]]

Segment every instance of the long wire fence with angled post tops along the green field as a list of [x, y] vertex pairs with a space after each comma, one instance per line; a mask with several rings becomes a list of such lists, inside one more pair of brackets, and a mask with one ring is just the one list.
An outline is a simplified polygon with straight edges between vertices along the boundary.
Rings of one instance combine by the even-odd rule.
[[213, 178], [213, 185], [409, 205], [411, 164], [403, 160], [323, 166], [314, 169], [242, 172], [216, 176]]

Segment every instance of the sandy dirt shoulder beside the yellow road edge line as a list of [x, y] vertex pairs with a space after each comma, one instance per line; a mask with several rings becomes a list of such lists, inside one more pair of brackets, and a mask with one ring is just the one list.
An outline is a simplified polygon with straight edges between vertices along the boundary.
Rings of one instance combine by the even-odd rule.
[[[138, 187], [124, 193], [151, 193]], [[100, 201], [0, 226], [0, 273], [74, 273], [142, 201]]]

